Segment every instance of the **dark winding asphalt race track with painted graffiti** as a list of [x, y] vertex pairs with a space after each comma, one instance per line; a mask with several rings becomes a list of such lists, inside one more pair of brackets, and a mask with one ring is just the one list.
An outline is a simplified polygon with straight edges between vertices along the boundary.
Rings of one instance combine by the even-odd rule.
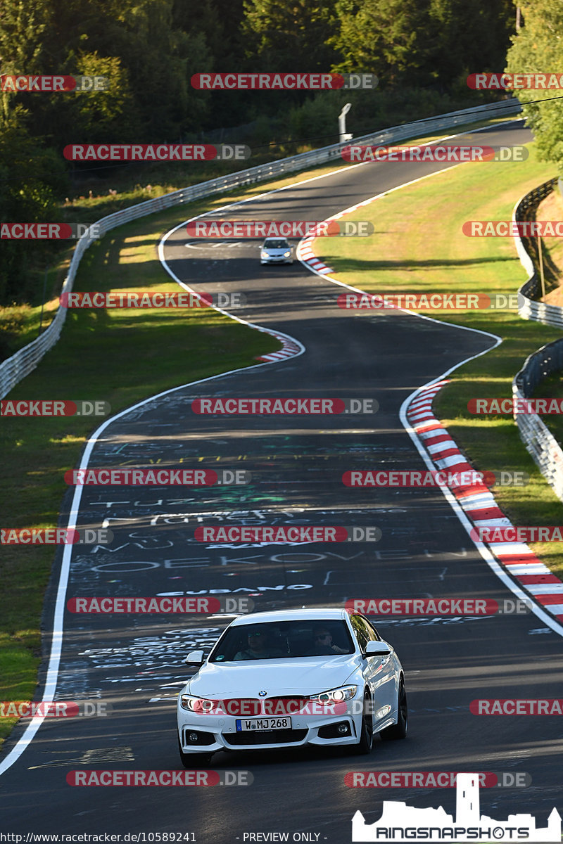
[[[520, 123], [479, 133], [491, 145], [526, 143]], [[460, 143], [468, 143], [460, 138]], [[502, 166], [483, 164], [482, 166]], [[368, 164], [306, 181], [230, 209], [231, 219], [326, 219], [377, 193], [444, 169]], [[494, 183], [491, 183], [494, 189]], [[382, 225], [385, 225], [382, 220]], [[95, 441], [89, 466], [245, 469], [244, 485], [84, 486], [78, 527], [104, 524], [113, 544], [72, 550], [67, 598], [223, 594], [255, 609], [343, 606], [347, 598], [512, 598], [480, 557], [439, 490], [350, 489], [351, 469], [424, 469], [403, 430], [404, 399], [493, 338], [398, 311], [343, 311], [342, 288], [300, 262], [261, 267], [257, 241], [187, 246], [165, 241], [171, 271], [195, 290], [241, 292], [236, 316], [286, 333], [305, 352], [276, 364], [181, 387], [121, 414]], [[330, 241], [322, 257], [330, 264]], [[392, 261], [392, 256], [388, 256]], [[455, 272], [452, 289], [455, 288]], [[359, 279], [361, 286], [361, 280]], [[452, 315], [455, 322], [455, 314]], [[376, 398], [376, 414], [205, 416], [194, 398]], [[65, 500], [72, 506], [72, 493]], [[209, 545], [198, 524], [376, 525], [376, 544]], [[68, 553], [71, 553], [70, 551]], [[44, 625], [52, 630], [57, 559]], [[212, 592], [223, 590], [223, 592]], [[176, 694], [195, 647], [209, 649], [224, 615], [79, 615], [65, 612], [57, 701], [94, 701], [107, 717], [47, 719], [0, 776], [3, 831], [194, 833], [201, 844], [248, 833], [309, 833], [345, 844], [357, 809], [368, 822], [382, 800], [442, 805], [455, 790], [350, 788], [348, 771], [527, 772], [526, 788], [481, 789], [493, 818], [531, 813], [544, 826], [561, 808], [563, 732], [556, 717], [477, 717], [479, 698], [556, 698], [563, 642], [534, 614], [373, 619], [403, 662], [409, 737], [376, 741], [370, 757], [345, 749], [217, 754], [214, 770], [251, 771], [249, 787], [72, 787], [73, 770], [176, 770]], [[4, 759], [24, 733], [20, 722]], [[1, 764], [1, 763], [0, 763]], [[146, 838], [149, 841], [149, 838]], [[157, 840], [157, 839], [154, 839]], [[254, 839], [254, 840], [267, 840]]]

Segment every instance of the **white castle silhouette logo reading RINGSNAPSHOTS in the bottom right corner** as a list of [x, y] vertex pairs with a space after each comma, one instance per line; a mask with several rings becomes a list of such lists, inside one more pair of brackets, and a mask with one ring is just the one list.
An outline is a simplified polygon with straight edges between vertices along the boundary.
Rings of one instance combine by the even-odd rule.
[[479, 775], [457, 774], [456, 819], [444, 809], [415, 809], [406, 803], [383, 801], [382, 816], [366, 824], [363, 814], [352, 819], [352, 841], [560, 841], [561, 816], [549, 814], [548, 825], [536, 828], [532, 814], [509, 814], [493, 820], [479, 810]]

